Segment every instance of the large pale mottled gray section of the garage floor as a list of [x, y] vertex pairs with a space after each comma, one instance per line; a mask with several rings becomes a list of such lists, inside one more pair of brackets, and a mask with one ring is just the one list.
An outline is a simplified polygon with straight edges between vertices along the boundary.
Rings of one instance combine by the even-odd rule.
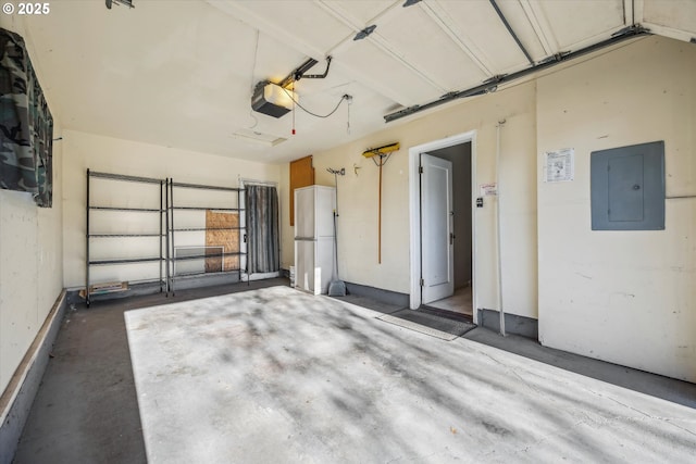
[[148, 460], [693, 462], [691, 407], [381, 314], [287, 287], [127, 312]]

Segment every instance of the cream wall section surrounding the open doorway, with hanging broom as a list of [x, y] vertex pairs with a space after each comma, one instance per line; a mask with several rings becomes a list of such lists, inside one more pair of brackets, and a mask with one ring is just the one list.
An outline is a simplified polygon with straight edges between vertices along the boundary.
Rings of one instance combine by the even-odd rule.
[[[356, 103], [357, 104], [357, 103]], [[501, 183], [506, 183], [504, 216], [504, 292], [509, 311], [536, 317], [536, 90], [533, 81], [471, 100], [452, 103], [435, 113], [396, 122], [384, 130], [351, 143], [313, 153], [316, 184], [333, 185], [327, 167], [346, 168], [338, 177], [338, 268], [350, 283], [410, 293], [409, 263], [409, 147], [448, 136], [476, 131], [475, 183], [496, 178], [496, 125], [501, 131]], [[369, 148], [400, 142], [383, 167], [382, 263], [377, 263], [378, 168], [362, 156]], [[287, 168], [281, 180], [287, 186]], [[285, 189], [287, 190], [287, 188]], [[288, 197], [282, 198], [284, 208]], [[288, 217], [283, 218], [288, 225]], [[478, 308], [497, 309], [495, 202], [475, 211], [474, 289]], [[293, 230], [285, 228], [285, 266]]]

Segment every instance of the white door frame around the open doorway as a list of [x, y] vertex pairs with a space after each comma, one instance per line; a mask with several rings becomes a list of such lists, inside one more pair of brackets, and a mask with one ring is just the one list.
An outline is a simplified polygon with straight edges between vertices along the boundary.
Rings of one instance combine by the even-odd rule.
[[473, 317], [476, 323], [476, 217], [473, 201], [476, 198], [476, 130], [458, 134], [439, 140], [433, 140], [409, 148], [409, 242], [410, 242], [410, 286], [409, 308], [417, 310], [421, 305], [421, 179], [419, 173], [421, 153], [471, 142], [471, 287], [473, 292]]

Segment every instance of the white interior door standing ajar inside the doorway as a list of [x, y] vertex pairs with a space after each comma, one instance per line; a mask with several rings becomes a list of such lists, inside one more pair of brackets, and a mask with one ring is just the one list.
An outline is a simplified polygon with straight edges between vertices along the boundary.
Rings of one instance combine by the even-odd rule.
[[452, 163], [421, 153], [422, 303], [455, 293]]

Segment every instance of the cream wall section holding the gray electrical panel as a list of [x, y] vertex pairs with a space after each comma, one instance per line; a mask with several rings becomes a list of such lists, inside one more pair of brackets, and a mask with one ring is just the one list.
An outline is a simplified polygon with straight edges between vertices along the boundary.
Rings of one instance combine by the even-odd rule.
[[[696, 46], [647, 37], [538, 79], [539, 340], [696, 381]], [[591, 229], [589, 156], [664, 140], [666, 229]], [[572, 181], [544, 152], [575, 150]]]

